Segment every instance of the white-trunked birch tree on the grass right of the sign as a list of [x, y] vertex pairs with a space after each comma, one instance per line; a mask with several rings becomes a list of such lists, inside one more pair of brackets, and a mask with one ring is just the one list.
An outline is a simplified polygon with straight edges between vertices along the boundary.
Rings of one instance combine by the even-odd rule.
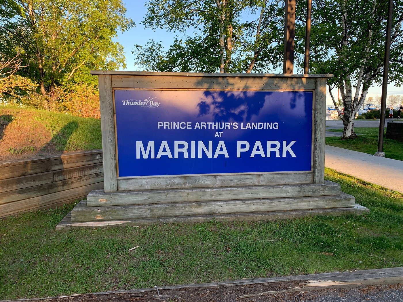
[[[311, 70], [333, 73], [328, 80], [340, 88], [344, 114], [342, 139], [357, 137], [354, 119], [364, 103], [369, 87], [382, 82], [386, 36], [387, 1], [322, 0], [315, 4], [312, 24]], [[403, 3], [395, 0], [390, 81], [403, 81]], [[353, 91], [355, 88], [355, 91]]]

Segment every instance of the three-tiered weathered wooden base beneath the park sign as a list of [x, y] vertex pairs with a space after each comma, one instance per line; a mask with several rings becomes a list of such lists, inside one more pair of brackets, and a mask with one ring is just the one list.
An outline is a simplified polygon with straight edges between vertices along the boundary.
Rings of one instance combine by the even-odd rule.
[[260, 185], [106, 193], [93, 190], [57, 230], [112, 225], [202, 221], [257, 221], [311, 215], [362, 214], [369, 210], [340, 191], [340, 185]]

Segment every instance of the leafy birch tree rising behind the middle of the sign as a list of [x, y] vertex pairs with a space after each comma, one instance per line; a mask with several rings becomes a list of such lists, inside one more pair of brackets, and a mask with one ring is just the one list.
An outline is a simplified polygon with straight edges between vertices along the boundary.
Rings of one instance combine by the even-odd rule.
[[[169, 50], [151, 40], [132, 51], [145, 70], [267, 72], [278, 66], [283, 39], [283, 2], [278, 0], [150, 0], [142, 21], [151, 29], [194, 35]], [[252, 16], [244, 21], [245, 12]]]

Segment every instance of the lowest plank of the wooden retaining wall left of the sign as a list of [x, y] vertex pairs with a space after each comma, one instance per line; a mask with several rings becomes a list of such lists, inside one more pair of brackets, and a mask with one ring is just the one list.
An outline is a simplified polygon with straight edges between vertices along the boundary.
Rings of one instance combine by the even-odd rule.
[[91, 190], [101, 189], [103, 188], [103, 186], [104, 186], [103, 182], [98, 182], [96, 184], [89, 184], [87, 186], [82, 186], [79, 188], [73, 188], [61, 192], [33, 197], [30, 199], [2, 204], [0, 205], [0, 218], [13, 215], [15, 213], [21, 213], [24, 211], [31, 211], [39, 208], [44, 208], [47, 207], [48, 205], [57, 203], [60, 200], [66, 201], [71, 199], [77, 199], [78, 197], [87, 195], [88, 192], [90, 192]]

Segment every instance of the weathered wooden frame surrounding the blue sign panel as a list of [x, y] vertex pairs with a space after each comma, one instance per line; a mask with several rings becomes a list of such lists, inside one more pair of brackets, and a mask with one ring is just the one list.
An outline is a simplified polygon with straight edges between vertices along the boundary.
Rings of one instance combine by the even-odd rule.
[[[292, 183], [324, 183], [324, 132], [326, 78], [332, 74], [217, 74], [184, 72], [92, 71], [98, 75], [101, 108], [102, 150], [105, 192], [149, 188], [184, 188], [192, 184], [220, 187], [231, 182], [250, 185], [270, 184], [273, 180]], [[222, 176], [164, 176], [123, 179], [117, 177], [116, 124], [113, 91], [115, 89], [229, 89], [260, 91], [312, 91], [314, 93], [314, 148], [311, 173], [262, 173]]]

